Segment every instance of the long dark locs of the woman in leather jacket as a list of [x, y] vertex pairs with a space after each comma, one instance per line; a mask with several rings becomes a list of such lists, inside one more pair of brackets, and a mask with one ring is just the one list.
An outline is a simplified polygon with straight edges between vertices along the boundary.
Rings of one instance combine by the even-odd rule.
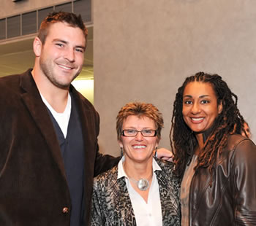
[[195, 170], [201, 167], [208, 168], [212, 176], [217, 154], [218, 152], [221, 154], [222, 149], [226, 147], [227, 137], [234, 133], [241, 134], [241, 130], [244, 130], [244, 117], [237, 107], [238, 97], [231, 92], [227, 83], [218, 74], [198, 72], [194, 76], [187, 77], [176, 93], [170, 128], [170, 146], [174, 153], [178, 176], [183, 176], [186, 165], [191, 160], [195, 147], [197, 147], [195, 134], [184, 122], [182, 115], [184, 89], [189, 82], [210, 83], [217, 96], [217, 104], [222, 103], [222, 112], [214, 120], [195, 166]]

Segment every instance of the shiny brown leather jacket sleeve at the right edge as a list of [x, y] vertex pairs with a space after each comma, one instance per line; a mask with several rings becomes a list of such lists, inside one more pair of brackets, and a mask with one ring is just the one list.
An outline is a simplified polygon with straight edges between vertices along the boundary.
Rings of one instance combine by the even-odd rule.
[[236, 225], [256, 225], [256, 147], [252, 141], [244, 139], [237, 145], [230, 167]]

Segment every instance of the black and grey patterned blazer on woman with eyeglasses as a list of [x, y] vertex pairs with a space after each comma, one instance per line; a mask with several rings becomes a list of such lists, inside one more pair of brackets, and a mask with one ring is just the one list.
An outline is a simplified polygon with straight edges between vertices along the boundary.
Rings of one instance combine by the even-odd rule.
[[[162, 160], [157, 160], [157, 163], [162, 169], [155, 171], [162, 206], [162, 225], [180, 225], [180, 179], [173, 175], [173, 163]], [[116, 165], [94, 179], [91, 225], [136, 225], [125, 179], [117, 179], [117, 176]]]

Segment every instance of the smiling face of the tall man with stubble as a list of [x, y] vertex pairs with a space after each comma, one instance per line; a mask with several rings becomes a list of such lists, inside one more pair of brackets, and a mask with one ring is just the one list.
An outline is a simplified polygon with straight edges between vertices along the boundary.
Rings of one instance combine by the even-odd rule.
[[53, 85], [69, 87], [83, 67], [86, 38], [80, 28], [53, 23], [41, 47], [39, 67]]

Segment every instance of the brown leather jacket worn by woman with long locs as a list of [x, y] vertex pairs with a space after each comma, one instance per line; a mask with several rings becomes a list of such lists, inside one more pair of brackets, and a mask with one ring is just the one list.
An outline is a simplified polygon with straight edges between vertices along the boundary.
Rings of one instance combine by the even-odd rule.
[[256, 225], [256, 146], [232, 135], [210, 187], [207, 168], [195, 171], [189, 191], [189, 225]]

